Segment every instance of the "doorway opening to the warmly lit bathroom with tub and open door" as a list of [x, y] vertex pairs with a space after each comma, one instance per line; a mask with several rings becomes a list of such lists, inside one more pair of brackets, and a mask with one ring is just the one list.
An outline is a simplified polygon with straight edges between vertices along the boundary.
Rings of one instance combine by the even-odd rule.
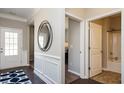
[[89, 22], [89, 75], [100, 83], [121, 83], [121, 13]]

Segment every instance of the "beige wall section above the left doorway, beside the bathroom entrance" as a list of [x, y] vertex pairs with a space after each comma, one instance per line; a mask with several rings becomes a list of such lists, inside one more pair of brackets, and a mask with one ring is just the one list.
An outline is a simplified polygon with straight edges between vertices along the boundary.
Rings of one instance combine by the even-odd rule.
[[65, 11], [70, 13], [70, 14], [73, 14], [75, 16], [78, 16], [80, 18], [84, 18], [85, 16], [85, 9], [84, 8], [66, 8]]

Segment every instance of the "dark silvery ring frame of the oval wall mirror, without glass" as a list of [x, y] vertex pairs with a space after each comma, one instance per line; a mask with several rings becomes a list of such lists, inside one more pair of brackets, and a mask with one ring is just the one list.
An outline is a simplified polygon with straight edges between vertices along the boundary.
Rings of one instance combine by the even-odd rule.
[[[40, 41], [39, 41], [39, 35], [42, 32], [42, 28], [44, 25], [47, 26], [49, 35], [48, 35], [48, 41], [47, 41], [46, 45], [42, 48], [40, 45]], [[53, 31], [52, 31], [50, 23], [47, 20], [42, 21], [41, 24], [39, 25], [38, 34], [37, 34], [37, 41], [38, 41], [38, 46], [39, 46], [40, 50], [46, 52], [50, 49], [50, 47], [52, 45], [52, 41], [53, 41]]]

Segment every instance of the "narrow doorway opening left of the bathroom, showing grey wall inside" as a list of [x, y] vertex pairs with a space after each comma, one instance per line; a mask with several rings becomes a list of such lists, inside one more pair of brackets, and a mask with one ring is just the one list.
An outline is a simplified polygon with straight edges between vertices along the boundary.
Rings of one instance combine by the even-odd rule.
[[65, 17], [65, 83], [80, 78], [80, 21]]

